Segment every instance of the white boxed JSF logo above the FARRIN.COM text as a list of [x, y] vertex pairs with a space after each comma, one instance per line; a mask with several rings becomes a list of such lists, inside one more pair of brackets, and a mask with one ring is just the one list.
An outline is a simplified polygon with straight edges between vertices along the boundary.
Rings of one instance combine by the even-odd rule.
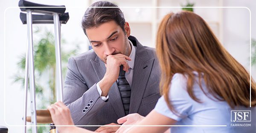
[[251, 111], [231, 111], [231, 122], [250, 122]]

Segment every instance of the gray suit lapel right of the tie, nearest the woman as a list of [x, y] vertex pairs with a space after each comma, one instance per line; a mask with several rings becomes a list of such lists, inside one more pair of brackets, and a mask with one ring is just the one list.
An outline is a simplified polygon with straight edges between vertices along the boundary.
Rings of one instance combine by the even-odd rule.
[[149, 58], [145, 48], [137, 42], [129, 114], [137, 113], [140, 107], [153, 63], [154, 58]]

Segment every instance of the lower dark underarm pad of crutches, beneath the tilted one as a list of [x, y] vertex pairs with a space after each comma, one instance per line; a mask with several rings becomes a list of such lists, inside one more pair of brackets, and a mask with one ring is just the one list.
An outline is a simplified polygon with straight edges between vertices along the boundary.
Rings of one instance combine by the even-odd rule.
[[[60, 14], [59, 19], [61, 24], [66, 24], [69, 19], [68, 12], [66, 12], [65, 14]], [[25, 13], [20, 13], [20, 20], [23, 24], [27, 23]], [[32, 14], [32, 24], [53, 24], [53, 16]]]

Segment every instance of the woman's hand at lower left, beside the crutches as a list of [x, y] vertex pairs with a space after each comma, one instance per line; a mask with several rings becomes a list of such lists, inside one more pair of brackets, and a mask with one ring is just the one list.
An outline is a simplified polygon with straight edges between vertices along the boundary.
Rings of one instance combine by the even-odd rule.
[[57, 126], [60, 133], [67, 133], [67, 130], [71, 130], [73, 127], [58, 127], [58, 125], [74, 125], [73, 119], [70, 115], [70, 110], [64, 103], [56, 102], [47, 107], [49, 110], [52, 121]]

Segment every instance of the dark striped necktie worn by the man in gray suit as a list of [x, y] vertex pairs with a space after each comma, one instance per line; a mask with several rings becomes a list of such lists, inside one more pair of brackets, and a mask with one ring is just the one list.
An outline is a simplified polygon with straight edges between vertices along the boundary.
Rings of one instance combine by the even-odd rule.
[[125, 71], [123, 70], [123, 66], [120, 66], [117, 85], [121, 94], [122, 104], [125, 109], [125, 115], [128, 115], [130, 108], [131, 87], [125, 78]]

